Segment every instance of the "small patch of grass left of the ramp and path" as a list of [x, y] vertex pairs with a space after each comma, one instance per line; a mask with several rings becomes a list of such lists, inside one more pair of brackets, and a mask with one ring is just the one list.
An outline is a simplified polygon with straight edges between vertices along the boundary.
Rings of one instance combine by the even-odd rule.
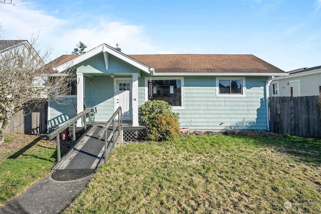
[[56, 144], [41, 136], [7, 134], [0, 145], [0, 205], [48, 174], [56, 161]]

